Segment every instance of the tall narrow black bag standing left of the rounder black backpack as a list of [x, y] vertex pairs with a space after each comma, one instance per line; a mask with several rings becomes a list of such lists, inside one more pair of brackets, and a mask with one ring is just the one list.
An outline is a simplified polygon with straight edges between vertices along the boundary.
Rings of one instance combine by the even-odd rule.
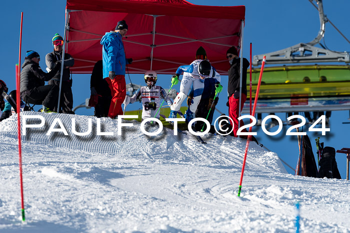
[[302, 156], [305, 158], [305, 171], [307, 177], [317, 177], [317, 166], [313, 156], [310, 139], [307, 135], [302, 137]]

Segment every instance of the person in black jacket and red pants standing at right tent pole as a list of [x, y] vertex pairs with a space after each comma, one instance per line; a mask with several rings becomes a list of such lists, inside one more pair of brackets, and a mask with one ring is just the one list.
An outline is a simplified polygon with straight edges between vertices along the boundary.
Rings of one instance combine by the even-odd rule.
[[[249, 61], [243, 58], [243, 69], [242, 69], [242, 93], [241, 98], [239, 100], [239, 77], [240, 77], [240, 58], [238, 57], [237, 49], [232, 46], [226, 52], [226, 58], [230, 64], [230, 68], [228, 70], [228, 84], [227, 84], [227, 92], [228, 92], [228, 115], [233, 120], [231, 126], [233, 127], [234, 137], [237, 137], [238, 130], [238, 117], [239, 112], [242, 110], [244, 102], [246, 100], [246, 69], [249, 67]], [[239, 101], [240, 101], [240, 109], [239, 109]], [[244, 125], [243, 121], [240, 121], [240, 126]], [[246, 132], [246, 130], [242, 130], [242, 132]]]

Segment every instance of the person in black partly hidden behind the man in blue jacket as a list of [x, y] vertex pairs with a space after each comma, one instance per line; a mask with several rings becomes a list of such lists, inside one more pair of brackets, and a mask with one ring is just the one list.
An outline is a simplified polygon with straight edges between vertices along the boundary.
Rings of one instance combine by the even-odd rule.
[[93, 66], [90, 79], [91, 96], [97, 96], [97, 103], [94, 106], [95, 117], [108, 117], [110, 100], [112, 98], [106, 78], [103, 78], [102, 60], [96, 62]]

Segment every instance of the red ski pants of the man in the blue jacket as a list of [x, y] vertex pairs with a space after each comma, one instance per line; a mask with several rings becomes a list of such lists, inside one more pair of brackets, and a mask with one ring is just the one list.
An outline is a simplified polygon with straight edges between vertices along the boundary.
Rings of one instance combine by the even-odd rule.
[[108, 117], [114, 118], [117, 115], [122, 115], [121, 104], [124, 102], [126, 95], [125, 76], [115, 75], [113, 80], [105, 78], [110, 88], [112, 100], [110, 101]]

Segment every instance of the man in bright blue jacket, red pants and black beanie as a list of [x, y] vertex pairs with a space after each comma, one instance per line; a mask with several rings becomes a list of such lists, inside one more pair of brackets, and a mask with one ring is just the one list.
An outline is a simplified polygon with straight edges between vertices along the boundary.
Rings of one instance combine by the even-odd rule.
[[108, 82], [112, 100], [108, 117], [122, 115], [121, 104], [126, 95], [125, 65], [131, 64], [132, 58], [126, 59], [122, 37], [128, 30], [125, 20], [118, 21], [114, 31], [106, 32], [102, 37], [103, 78]]

